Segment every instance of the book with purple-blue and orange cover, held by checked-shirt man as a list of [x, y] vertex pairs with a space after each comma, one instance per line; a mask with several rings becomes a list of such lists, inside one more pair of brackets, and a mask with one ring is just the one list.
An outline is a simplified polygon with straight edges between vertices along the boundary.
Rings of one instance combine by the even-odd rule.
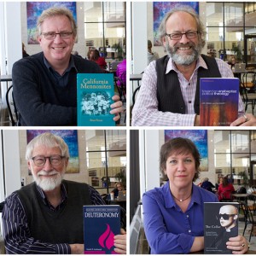
[[201, 126], [226, 126], [238, 118], [239, 79], [200, 79]]

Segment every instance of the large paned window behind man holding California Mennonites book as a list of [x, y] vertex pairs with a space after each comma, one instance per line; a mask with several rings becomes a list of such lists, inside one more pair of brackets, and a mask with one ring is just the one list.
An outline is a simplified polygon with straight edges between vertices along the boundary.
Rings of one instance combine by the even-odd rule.
[[84, 3], [85, 51], [98, 49], [102, 57], [125, 56], [125, 2]]

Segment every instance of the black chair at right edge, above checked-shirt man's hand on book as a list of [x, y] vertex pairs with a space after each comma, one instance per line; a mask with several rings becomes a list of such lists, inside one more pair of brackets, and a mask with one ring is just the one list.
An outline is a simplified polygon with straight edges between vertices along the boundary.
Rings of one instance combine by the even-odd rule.
[[254, 72], [249, 71], [244, 73], [241, 81], [241, 97], [245, 104], [245, 111], [247, 111], [248, 105], [252, 105], [252, 113], [254, 112], [254, 107], [256, 104], [256, 75]]

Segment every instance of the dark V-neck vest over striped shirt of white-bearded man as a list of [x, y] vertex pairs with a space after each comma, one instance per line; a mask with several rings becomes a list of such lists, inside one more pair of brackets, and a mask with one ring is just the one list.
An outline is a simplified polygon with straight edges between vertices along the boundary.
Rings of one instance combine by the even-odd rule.
[[63, 180], [67, 201], [53, 212], [44, 204], [36, 183], [17, 191], [24, 206], [28, 228], [36, 240], [50, 243], [84, 243], [83, 206], [91, 205], [89, 185]]

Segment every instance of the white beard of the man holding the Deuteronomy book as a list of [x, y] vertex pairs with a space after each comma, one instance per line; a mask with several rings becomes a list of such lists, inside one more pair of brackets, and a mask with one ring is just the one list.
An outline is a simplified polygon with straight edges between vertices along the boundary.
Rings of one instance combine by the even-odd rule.
[[[50, 191], [60, 186], [61, 181], [64, 177], [64, 173], [65, 173], [65, 169], [63, 169], [61, 172], [57, 172], [55, 170], [50, 172], [45, 172], [44, 170], [42, 170], [36, 174], [32, 170], [32, 176], [34, 178], [34, 181], [37, 183], [38, 187], [40, 187], [44, 191]], [[48, 175], [48, 176], [52, 175], [52, 177], [40, 177], [41, 175]]]

